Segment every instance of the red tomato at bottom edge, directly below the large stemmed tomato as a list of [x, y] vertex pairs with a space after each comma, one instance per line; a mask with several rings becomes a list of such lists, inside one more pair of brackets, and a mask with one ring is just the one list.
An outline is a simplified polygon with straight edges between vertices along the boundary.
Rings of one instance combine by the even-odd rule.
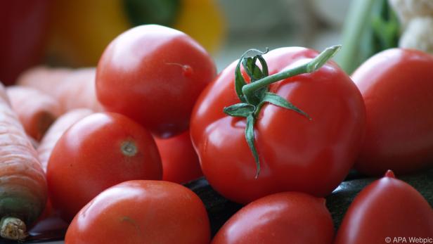
[[323, 198], [284, 192], [254, 200], [219, 229], [212, 244], [332, 243], [334, 226]]

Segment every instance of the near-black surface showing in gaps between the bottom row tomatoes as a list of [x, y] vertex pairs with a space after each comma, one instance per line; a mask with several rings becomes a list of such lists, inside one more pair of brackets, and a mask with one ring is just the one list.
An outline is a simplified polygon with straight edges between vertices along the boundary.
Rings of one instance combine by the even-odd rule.
[[[427, 202], [433, 206], [433, 169], [425, 170], [425, 172], [418, 174], [411, 174], [399, 177], [406, 183], [417, 189]], [[335, 229], [340, 226], [344, 213], [347, 211], [350, 203], [354, 200], [356, 195], [368, 184], [375, 181], [377, 178], [365, 178], [365, 176], [352, 171], [349, 173], [345, 181], [326, 198], [326, 205], [332, 219], [334, 221]], [[205, 204], [207, 214], [209, 216], [212, 236], [223, 226], [235, 212], [240, 210], [243, 205], [233, 203], [221, 196], [219, 193], [209, 185], [207, 180], [202, 177], [195, 181], [185, 184], [186, 187], [194, 191]], [[57, 229], [44, 231], [44, 226], [32, 229], [30, 237], [24, 243], [41, 243], [48, 240], [62, 240], [66, 228], [65, 223], [59, 219], [51, 219], [54, 221], [55, 226], [60, 226]], [[58, 222], [55, 222], [58, 221]], [[61, 227], [63, 224], [63, 227]], [[0, 244], [17, 243], [16, 241], [0, 239]]]

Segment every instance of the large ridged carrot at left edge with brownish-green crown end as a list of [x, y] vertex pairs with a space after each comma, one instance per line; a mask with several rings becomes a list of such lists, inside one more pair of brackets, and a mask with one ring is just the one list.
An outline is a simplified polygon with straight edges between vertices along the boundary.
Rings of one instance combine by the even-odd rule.
[[22, 240], [44, 210], [46, 178], [41, 163], [0, 85], [0, 236]]

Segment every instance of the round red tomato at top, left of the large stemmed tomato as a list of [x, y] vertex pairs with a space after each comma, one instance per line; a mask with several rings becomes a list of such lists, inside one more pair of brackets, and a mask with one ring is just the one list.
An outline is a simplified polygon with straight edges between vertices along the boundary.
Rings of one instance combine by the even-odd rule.
[[183, 32], [141, 25], [120, 34], [103, 52], [96, 94], [106, 110], [167, 138], [188, 129], [193, 105], [215, 74], [209, 54]]

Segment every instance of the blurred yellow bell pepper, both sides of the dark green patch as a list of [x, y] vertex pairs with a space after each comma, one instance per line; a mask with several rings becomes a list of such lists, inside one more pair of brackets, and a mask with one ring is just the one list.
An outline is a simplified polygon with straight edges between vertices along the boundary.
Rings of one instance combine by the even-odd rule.
[[[127, 1], [53, 1], [47, 50], [50, 63], [74, 67], [96, 65], [110, 41], [133, 27], [131, 13], [125, 7]], [[180, 1], [179, 10], [171, 27], [186, 32], [208, 51], [216, 51], [224, 37], [224, 20], [216, 0], [177, 1]], [[134, 3], [137, 2], [141, 3], [140, 0]], [[141, 4], [138, 6], [146, 6]]]

